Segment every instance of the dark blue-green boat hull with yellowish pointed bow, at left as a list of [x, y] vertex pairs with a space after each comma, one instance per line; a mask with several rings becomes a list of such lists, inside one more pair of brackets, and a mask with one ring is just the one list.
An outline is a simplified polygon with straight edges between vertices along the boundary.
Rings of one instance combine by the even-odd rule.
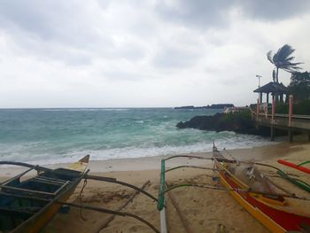
[[[89, 155], [66, 168], [49, 169], [19, 162], [0, 162], [29, 167], [27, 171], [0, 183], [0, 232], [38, 232], [73, 194], [84, 175]], [[21, 181], [31, 170], [38, 172]]]

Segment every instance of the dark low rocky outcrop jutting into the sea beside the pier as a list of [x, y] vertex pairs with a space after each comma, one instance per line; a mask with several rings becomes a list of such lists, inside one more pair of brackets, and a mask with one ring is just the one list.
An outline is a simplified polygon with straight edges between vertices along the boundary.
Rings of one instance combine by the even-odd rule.
[[213, 116], [195, 116], [192, 119], [179, 122], [177, 128], [197, 128], [212, 131], [234, 131], [240, 134], [269, 136], [270, 129], [256, 127], [251, 113], [244, 111], [241, 113], [216, 113]]

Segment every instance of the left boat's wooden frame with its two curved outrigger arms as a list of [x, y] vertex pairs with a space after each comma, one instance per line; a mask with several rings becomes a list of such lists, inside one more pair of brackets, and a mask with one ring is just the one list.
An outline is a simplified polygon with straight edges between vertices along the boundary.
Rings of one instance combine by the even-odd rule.
[[[136, 214], [130, 214], [130, 213], [125, 213], [125, 212], [120, 212], [120, 211], [114, 211], [110, 209], [105, 209], [105, 208], [98, 208], [94, 206], [85, 206], [85, 205], [76, 205], [74, 203], [68, 203], [66, 202], [66, 199], [70, 198], [72, 193], [74, 192], [76, 186], [81, 182], [82, 179], [89, 179], [89, 180], [95, 180], [95, 181], [100, 181], [100, 182], [107, 182], [107, 183], [117, 183], [123, 186], [127, 186], [131, 189], [136, 190], [136, 193], [143, 193], [143, 195], [147, 196], [148, 198], [153, 199], [154, 201], [158, 201], [157, 198], [153, 197], [149, 192], [140, 189], [136, 187], [133, 184], [130, 183], [125, 183], [118, 181], [116, 178], [112, 177], [104, 177], [104, 176], [97, 176], [97, 175], [88, 175], [89, 170], [85, 172], [86, 165], [89, 162], [89, 156], [85, 156], [83, 159], [80, 159], [78, 162], [72, 164], [71, 166], [67, 168], [59, 168], [56, 170], [47, 168], [47, 167], [40, 167], [40, 166], [34, 166], [31, 164], [27, 163], [22, 163], [22, 162], [12, 162], [12, 161], [0, 161], [0, 165], [15, 165], [15, 166], [21, 166], [21, 167], [29, 167], [25, 172], [20, 173], [19, 175], [16, 175], [7, 181], [4, 181], [3, 183], [0, 183], [0, 195], [11, 197], [11, 198], [25, 198], [29, 199], [32, 201], [41, 201], [41, 202], [47, 202], [46, 206], [40, 209], [40, 211], [36, 214], [33, 214], [31, 217], [29, 217], [26, 221], [24, 221], [22, 224], [20, 224], [18, 227], [15, 229], [12, 229], [10, 232], [38, 232], [40, 229], [42, 229], [49, 221], [50, 219], [58, 213], [58, 209], [63, 206], [73, 206], [73, 207], [78, 207], [78, 208], [83, 208], [83, 209], [88, 209], [92, 211], [97, 211], [100, 213], [105, 213], [105, 214], [113, 214], [113, 215], [120, 215], [120, 216], [128, 216], [136, 219], [137, 221], [143, 222], [145, 225], [147, 225], [150, 229], [152, 229], [154, 232], [159, 233], [159, 230], [156, 229], [149, 221], [145, 221], [143, 218], [137, 216]], [[86, 165], [85, 165], [86, 164]], [[81, 169], [83, 168], [84, 169]], [[53, 192], [45, 192], [45, 191], [37, 191], [37, 190], [27, 190], [27, 189], [19, 189], [19, 188], [14, 188], [11, 186], [8, 186], [9, 183], [12, 181], [17, 181], [22, 177], [23, 175], [26, 175], [28, 172], [31, 170], [36, 170], [38, 172], [38, 175], [36, 175], [34, 179], [36, 182], [40, 183], [46, 183], [46, 184], [55, 184], [58, 185], [59, 188], [58, 190], [55, 190]], [[67, 174], [67, 172], [74, 173], [76, 174]], [[48, 176], [43, 176], [44, 173], [51, 173], [53, 175], [69, 175], [70, 178], [75, 180], [73, 182], [68, 182], [67, 180], [62, 180], [62, 179], [55, 179], [55, 178], [50, 178]], [[30, 179], [28, 179], [30, 180]], [[3, 189], [6, 191], [3, 191]], [[66, 190], [64, 190], [66, 189]], [[24, 192], [24, 195], [19, 195], [19, 194], [13, 194], [12, 191], [16, 190], [21, 190]], [[64, 191], [63, 191], [64, 190]], [[10, 209], [5, 209], [5, 211], [12, 212], [13, 210]], [[27, 211], [24, 213], [27, 213]], [[32, 213], [29, 213], [32, 214]], [[6, 232], [6, 231], [5, 231]]]

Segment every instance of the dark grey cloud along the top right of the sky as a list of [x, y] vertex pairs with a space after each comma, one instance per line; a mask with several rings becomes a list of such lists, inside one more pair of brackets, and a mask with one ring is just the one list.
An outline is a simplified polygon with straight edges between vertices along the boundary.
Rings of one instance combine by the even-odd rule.
[[159, 1], [157, 11], [169, 21], [190, 27], [225, 27], [229, 11], [238, 9], [245, 17], [262, 20], [290, 19], [309, 11], [308, 0], [180, 0]]

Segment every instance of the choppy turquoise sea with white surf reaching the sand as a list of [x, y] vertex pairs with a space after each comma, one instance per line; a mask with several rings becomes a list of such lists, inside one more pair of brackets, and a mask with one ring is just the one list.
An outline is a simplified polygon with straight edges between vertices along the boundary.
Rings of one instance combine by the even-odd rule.
[[142, 158], [220, 148], [250, 148], [268, 138], [234, 132], [179, 129], [179, 121], [215, 109], [59, 108], [0, 109], [0, 160], [34, 164]]

